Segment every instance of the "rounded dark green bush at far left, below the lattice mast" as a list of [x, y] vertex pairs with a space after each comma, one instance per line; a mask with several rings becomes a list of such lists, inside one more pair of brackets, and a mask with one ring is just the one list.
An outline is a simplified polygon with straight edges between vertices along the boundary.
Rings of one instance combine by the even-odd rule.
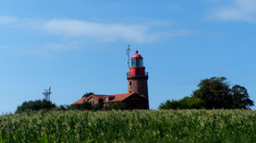
[[39, 111], [39, 110], [51, 110], [55, 109], [55, 103], [46, 100], [37, 101], [24, 101], [20, 106], [18, 106], [16, 113], [29, 112], [29, 111]]

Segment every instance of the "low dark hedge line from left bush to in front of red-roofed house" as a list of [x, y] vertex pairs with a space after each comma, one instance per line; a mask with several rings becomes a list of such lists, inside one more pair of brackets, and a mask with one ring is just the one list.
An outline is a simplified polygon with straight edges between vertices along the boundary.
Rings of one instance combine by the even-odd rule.
[[123, 102], [112, 102], [104, 107], [103, 104], [92, 105], [91, 102], [83, 102], [74, 105], [60, 105], [57, 106], [52, 101], [37, 100], [37, 101], [24, 101], [18, 106], [16, 113], [30, 112], [30, 111], [70, 111], [70, 110], [88, 110], [88, 111], [108, 111], [108, 110], [128, 110], [128, 105]]

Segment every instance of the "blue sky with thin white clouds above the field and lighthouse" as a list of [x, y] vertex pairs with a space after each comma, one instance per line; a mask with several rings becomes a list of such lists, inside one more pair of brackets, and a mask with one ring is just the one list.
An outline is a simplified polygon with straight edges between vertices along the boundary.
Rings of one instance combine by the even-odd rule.
[[127, 55], [149, 72], [150, 106], [227, 77], [256, 101], [256, 0], [1, 0], [0, 112], [127, 92]]

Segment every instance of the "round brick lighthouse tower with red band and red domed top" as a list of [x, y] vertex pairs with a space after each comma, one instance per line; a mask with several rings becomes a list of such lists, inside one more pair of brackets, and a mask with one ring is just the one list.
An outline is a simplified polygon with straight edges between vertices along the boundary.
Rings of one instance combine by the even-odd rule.
[[149, 74], [143, 66], [143, 57], [136, 51], [131, 57], [131, 66], [128, 68], [128, 93], [144, 95], [146, 103], [144, 109], [149, 109], [148, 78]]

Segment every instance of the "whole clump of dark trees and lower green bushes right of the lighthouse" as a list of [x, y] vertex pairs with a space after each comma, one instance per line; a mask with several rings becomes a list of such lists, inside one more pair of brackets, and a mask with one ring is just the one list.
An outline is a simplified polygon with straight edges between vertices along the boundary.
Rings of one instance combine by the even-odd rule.
[[226, 77], [203, 79], [198, 87], [190, 97], [165, 101], [159, 109], [250, 109], [254, 105], [247, 89], [239, 85], [231, 88]]

